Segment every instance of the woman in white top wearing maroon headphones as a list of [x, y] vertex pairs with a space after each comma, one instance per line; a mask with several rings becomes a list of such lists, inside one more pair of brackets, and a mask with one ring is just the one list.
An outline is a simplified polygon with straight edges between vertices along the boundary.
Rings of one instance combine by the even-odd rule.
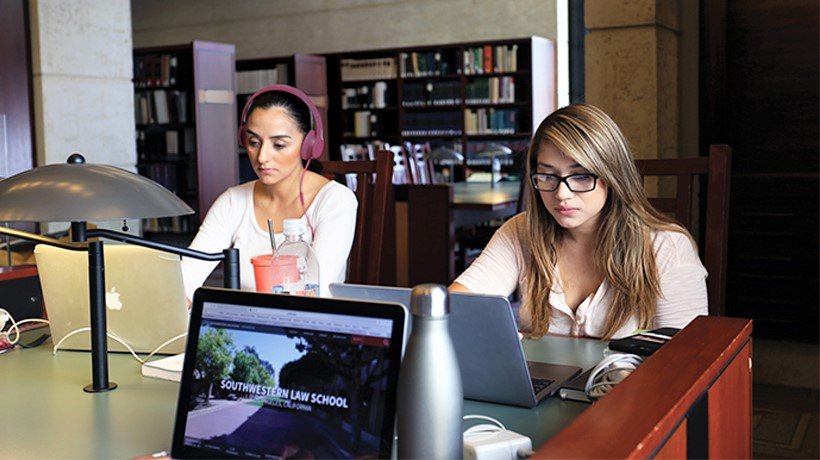
[[[241, 288], [253, 290], [250, 259], [271, 251], [268, 219], [278, 246], [284, 241], [283, 220], [302, 218], [319, 261], [319, 292], [325, 295], [328, 284], [344, 281], [358, 203], [350, 189], [309, 170], [322, 154], [323, 136], [319, 111], [302, 91], [271, 85], [254, 93], [242, 111], [239, 144], [257, 179], [216, 199], [190, 247], [205, 252], [239, 248]], [[189, 300], [216, 264], [183, 258]]]

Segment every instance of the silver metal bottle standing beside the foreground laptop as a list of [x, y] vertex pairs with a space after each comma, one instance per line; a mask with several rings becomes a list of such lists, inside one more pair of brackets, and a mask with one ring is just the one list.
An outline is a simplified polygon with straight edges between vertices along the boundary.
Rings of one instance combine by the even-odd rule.
[[462, 458], [464, 393], [448, 300], [444, 286], [413, 288], [413, 329], [399, 372], [398, 458]]

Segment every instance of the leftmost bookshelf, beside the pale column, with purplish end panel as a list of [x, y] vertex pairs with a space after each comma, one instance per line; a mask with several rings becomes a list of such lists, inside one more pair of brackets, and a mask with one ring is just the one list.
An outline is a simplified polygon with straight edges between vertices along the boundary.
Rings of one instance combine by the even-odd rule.
[[198, 40], [134, 50], [137, 170], [196, 211], [145, 219], [148, 238], [189, 239], [237, 183], [234, 56], [233, 45]]

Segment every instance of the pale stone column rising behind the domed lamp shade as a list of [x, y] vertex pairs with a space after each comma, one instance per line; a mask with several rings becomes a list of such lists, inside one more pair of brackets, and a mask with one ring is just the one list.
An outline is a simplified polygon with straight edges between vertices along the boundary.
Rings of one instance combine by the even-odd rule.
[[30, 0], [37, 166], [81, 151], [134, 170], [128, 0]]

